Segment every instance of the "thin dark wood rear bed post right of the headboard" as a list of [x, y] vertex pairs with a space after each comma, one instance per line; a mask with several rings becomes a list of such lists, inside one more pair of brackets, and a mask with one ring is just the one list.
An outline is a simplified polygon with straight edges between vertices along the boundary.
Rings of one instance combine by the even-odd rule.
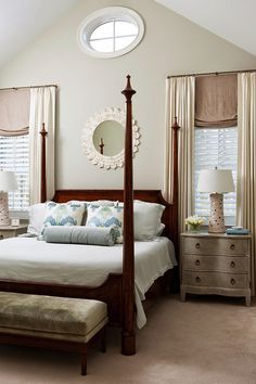
[[176, 253], [179, 249], [179, 223], [178, 223], [178, 204], [179, 204], [179, 178], [178, 178], [178, 130], [180, 126], [177, 123], [177, 117], [175, 117], [175, 123], [172, 125], [174, 130], [174, 191], [172, 191], [172, 232], [174, 232], [174, 243]]

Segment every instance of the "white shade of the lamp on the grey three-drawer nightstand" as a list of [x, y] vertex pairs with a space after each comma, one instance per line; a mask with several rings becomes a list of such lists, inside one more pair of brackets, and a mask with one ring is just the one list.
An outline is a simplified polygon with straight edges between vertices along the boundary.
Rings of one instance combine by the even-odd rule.
[[232, 171], [230, 169], [203, 169], [200, 171], [197, 191], [227, 193], [234, 191]]

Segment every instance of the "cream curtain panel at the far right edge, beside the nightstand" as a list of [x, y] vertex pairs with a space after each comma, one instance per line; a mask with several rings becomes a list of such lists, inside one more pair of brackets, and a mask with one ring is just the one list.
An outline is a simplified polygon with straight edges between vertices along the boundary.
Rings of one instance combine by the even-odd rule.
[[256, 248], [256, 73], [238, 75], [238, 225], [252, 232], [252, 293]]

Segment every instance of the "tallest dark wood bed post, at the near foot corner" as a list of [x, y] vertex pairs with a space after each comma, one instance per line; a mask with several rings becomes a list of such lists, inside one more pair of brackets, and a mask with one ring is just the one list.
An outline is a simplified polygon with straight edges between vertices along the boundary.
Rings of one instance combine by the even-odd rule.
[[127, 86], [121, 93], [126, 97], [121, 354], [133, 355], [136, 332], [131, 98], [136, 91], [130, 86], [130, 76], [127, 76]]

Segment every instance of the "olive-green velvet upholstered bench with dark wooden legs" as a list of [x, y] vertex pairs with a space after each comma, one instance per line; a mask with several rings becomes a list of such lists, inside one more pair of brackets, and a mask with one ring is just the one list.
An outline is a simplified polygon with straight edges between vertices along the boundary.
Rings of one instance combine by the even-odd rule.
[[100, 336], [105, 351], [106, 304], [92, 299], [0, 292], [0, 344], [26, 345], [81, 355], [87, 374], [87, 343]]

